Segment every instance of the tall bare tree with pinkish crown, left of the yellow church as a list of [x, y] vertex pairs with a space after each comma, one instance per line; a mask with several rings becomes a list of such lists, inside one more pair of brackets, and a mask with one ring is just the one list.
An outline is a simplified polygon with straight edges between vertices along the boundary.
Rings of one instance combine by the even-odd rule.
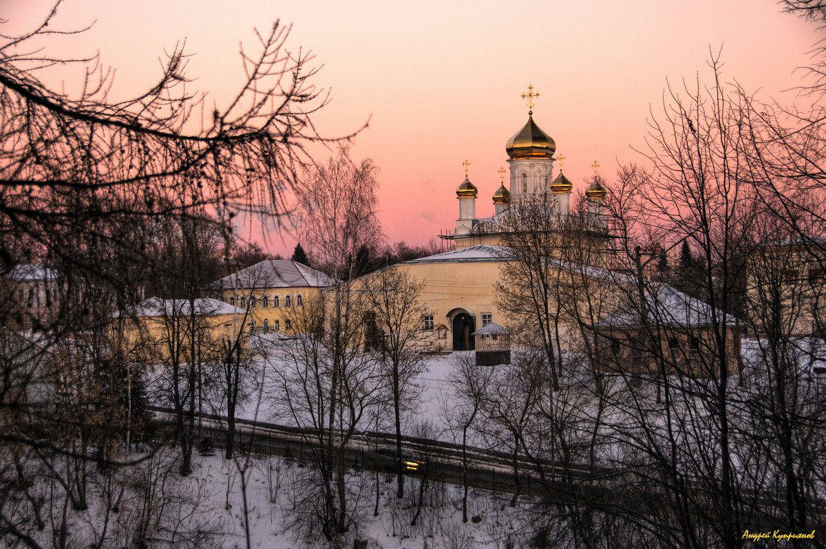
[[358, 498], [349, 497], [345, 449], [382, 400], [381, 371], [363, 351], [368, 297], [354, 286], [358, 248], [380, 234], [374, 173], [372, 163], [354, 166], [340, 149], [308, 174], [306, 191], [299, 194], [301, 242], [333, 283], [287, 311], [296, 338], [284, 343], [282, 365], [273, 368], [278, 404], [311, 430], [306, 442], [314, 447], [318, 466], [311, 490], [299, 496], [301, 506], [311, 509], [299, 514], [299, 526], [310, 536], [320, 528], [330, 541], [357, 523]]

